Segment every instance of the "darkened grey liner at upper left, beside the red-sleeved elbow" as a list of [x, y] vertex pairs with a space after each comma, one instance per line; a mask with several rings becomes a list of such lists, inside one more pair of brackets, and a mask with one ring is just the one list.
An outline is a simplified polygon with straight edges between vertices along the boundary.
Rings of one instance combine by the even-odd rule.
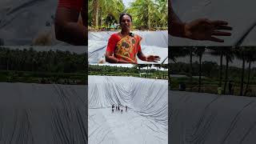
[[58, 0], [2, 0], [0, 2], [0, 38], [5, 46], [30, 46], [41, 34], [52, 37], [53, 45], [66, 45], [56, 41], [54, 17]]

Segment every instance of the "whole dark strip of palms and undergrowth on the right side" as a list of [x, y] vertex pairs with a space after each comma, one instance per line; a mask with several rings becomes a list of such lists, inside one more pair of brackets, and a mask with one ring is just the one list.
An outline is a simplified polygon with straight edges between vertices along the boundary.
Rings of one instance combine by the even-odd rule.
[[[219, 63], [202, 62], [206, 53], [218, 56]], [[251, 68], [251, 63], [256, 61], [255, 47], [174, 47], [170, 49], [169, 56], [174, 62], [170, 64], [170, 73], [186, 75], [183, 78], [171, 78], [171, 88], [174, 90], [184, 83], [186, 90], [216, 94], [218, 87], [221, 87], [222, 94], [229, 94], [228, 85], [231, 81], [234, 95], [248, 95], [248, 91], [253, 93], [250, 96], [256, 93], [256, 68]], [[188, 57], [189, 62], [178, 62], [177, 59], [182, 57]], [[194, 58], [198, 62], [193, 62]], [[226, 63], [223, 63], [223, 59]], [[242, 61], [242, 68], [230, 66], [234, 59]], [[249, 65], [247, 69], [246, 62]]]

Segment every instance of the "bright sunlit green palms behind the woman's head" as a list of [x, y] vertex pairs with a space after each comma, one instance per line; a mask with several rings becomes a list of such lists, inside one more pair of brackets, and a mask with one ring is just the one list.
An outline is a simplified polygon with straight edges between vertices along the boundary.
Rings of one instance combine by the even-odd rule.
[[168, 26], [167, 0], [135, 0], [126, 8], [122, 0], [89, 0], [88, 25], [94, 30], [118, 24], [119, 15], [129, 13], [134, 29], [162, 30]]

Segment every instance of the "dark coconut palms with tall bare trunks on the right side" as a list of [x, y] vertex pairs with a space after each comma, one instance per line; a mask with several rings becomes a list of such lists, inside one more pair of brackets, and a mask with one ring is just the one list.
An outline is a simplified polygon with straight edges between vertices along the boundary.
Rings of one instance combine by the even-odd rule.
[[[219, 56], [219, 83], [218, 86], [222, 87], [223, 85], [223, 59], [226, 59], [226, 68], [225, 68], [225, 78], [224, 78], [224, 86], [223, 93], [226, 94], [226, 87], [229, 78], [228, 70], [230, 62], [234, 61], [234, 58], [238, 58], [242, 60], [242, 74], [241, 74], [241, 82], [240, 82], [240, 93], [239, 95], [244, 95], [244, 81], [245, 81], [245, 65], [248, 63], [248, 74], [247, 74], [247, 82], [246, 82], [246, 90], [249, 88], [250, 84], [250, 73], [251, 73], [251, 63], [256, 61], [256, 47], [174, 47], [170, 49], [170, 60], [173, 62], [177, 62], [177, 58], [179, 57], [190, 57], [190, 82], [192, 82], [192, 58], [198, 57], [199, 61], [199, 70], [198, 70], [198, 92], [201, 92], [202, 86], [202, 57], [203, 54], [207, 51], [210, 54]], [[170, 65], [171, 70], [171, 65]]]

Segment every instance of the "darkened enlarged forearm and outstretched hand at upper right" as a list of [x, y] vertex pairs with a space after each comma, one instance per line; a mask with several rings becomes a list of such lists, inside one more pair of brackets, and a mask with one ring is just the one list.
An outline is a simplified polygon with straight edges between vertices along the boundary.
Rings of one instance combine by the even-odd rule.
[[230, 36], [229, 32], [222, 30], [232, 30], [232, 27], [228, 26], [228, 22], [225, 21], [211, 21], [207, 18], [198, 18], [191, 22], [182, 22], [178, 16], [174, 13], [171, 6], [169, 7], [170, 23], [169, 34], [181, 37], [190, 38], [194, 40], [208, 40], [213, 42], [224, 42], [223, 39], [216, 38], [215, 36]]

